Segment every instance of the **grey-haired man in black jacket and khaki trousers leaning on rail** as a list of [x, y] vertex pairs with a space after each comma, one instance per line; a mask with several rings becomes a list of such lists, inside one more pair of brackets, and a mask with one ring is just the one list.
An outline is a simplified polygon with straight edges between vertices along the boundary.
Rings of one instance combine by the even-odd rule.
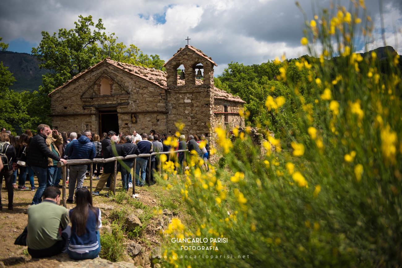
[[[111, 145], [106, 147], [105, 152], [103, 154], [103, 158], [106, 159], [106, 158], [111, 158], [114, 156], [126, 156], [127, 155], [124, 150], [123, 145], [117, 144], [118, 140], [119, 140], [118, 136], [111, 137], [112, 143], [111, 143]], [[117, 154], [115, 154], [114, 151], [117, 152]], [[119, 161], [117, 161], [117, 171], [119, 171], [119, 169], [120, 169], [120, 164], [119, 164]], [[110, 185], [111, 185], [111, 189], [113, 189], [115, 180], [114, 180], [114, 178], [112, 178], [113, 177], [112, 174], [114, 173], [114, 171], [115, 171], [115, 161], [106, 163], [105, 166], [103, 166], [102, 176], [99, 178], [98, 185], [96, 185], [95, 191], [92, 192], [93, 195], [99, 195], [99, 192], [102, 191], [103, 186], [105, 186], [105, 183], [109, 177], [111, 177]], [[109, 197], [108, 194], [106, 194], [106, 196]]]

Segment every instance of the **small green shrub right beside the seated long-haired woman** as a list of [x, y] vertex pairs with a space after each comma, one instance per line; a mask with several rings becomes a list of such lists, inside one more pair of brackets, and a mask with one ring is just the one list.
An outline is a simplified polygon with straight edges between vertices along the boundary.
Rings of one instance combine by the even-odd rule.
[[112, 223], [111, 227], [112, 233], [105, 232], [100, 235], [99, 257], [112, 262], [119, 262], [122, 260], [125, 250], [123, 245], [124, 234], [117, 223]]

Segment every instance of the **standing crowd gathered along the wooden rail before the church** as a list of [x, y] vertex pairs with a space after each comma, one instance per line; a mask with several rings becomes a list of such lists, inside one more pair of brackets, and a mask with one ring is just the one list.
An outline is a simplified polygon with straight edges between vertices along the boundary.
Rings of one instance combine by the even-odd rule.
[[[12, 210], [12, 200], [14, 189], [35, 191], [34, 174], [38, 180], [38, 187], [33, 196], [32, 205], [41, 203], [43, 191], [47, 187], [54, 186], [62, 188], [62, 168], [57, 167], [57, 162], [62, 161], [66, 164], [67, 159], [93, 159], [110, 158], [113, 156], [127, 156], [130, 154], [149, 154], [152, 152], [168, 152], [171, 144], [164, 144], [168, 138], [167, 134], [158, 134], [151, 130], [150, 134], [142, 133], [139, 135], [135, 130], [132, 134], [116, 134], [114, 131], [105, 132], [100, 137], [89, 130], [82, 133], [59, 133], [57, 130], [45, 124], [37, 128], [37, 134], [33, 135], [31, 130], [26, 130], [21, 136], [12, 136], [5, 128], [0, 132], [0, 154], [2, 154], [2, 164], [6, 166], [0, 172], [0, 183], [3, 177], [8, 191], [8, 209]], [[177, 145], [174, 150], [194, 150], [205, 160], [209, 158], [209, 142], [204, 135], [198, 138], [196, 135], [189, 135], [186, 139], [184, 135], [176, 137]], [[201, 144], [200, 144], [201, 142]], [[113, 149], [112, 149], [112, 146]], [[114, 150], [115, 149], [115, 150]], [[178, 153], [179, 171], [184, 170], [184, 152]], [[150, 160], [150, 163], [148, 162]], [[145, 184], [155, 183], [154, 172], [158, 170], [158, 159], [156, 156], [138, 157], [135, 167], [135, 185], [143, 187]], [[122, 164], [118, 162], [117, 171], [121, 173], [123, 189], [128, 191], [132, 187], [131, 169], [133, 160], [124, 160]], [[74, 192], [83, 186], [86, 173], [90, 171], [90, 165], [78, 164], [69, 165], [67, 169], [68, 183], [68, 203], [74, 203]], [[102, 175], [100, 176], [100, 174]], [[92, 166], [92, 175], [98, 180], [93, 195], [99, 195], [103, 189], [109, 191], [113, 189], [114, 162], [106, 164], [96, 164]], [[18, 177], [18, 186], [16, 179]], [[31, 187], [27, 188], [25, 182], [29, 178]], [[108, 197], [109, 193], [106, 193]], [[1, 197], [1, 193], [0, 193]], [[0, 209], [2, 205], [0, 203]]]

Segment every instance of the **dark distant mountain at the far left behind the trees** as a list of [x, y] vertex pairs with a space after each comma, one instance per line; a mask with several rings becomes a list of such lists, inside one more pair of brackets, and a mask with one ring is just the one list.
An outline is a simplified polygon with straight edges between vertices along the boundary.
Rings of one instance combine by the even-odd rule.
[[49, 70], [39, 69], [39, 61], [28, 53], [0, 51], [0, 61], [13, 73], [16, 81], [10, 87], [14, 91], [34, 91], [42, 85], [42, 75]]

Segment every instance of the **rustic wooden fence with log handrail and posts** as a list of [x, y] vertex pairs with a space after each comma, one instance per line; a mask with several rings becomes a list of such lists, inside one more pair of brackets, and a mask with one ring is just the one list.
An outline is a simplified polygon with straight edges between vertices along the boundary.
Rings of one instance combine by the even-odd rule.
[[[188, 152], [189, 150], [176, 150], [172, 152], [153, 152], [151, 154], [130, 154], [127, 156], [115, 156], [111, 158], [94, 158], [94, 159], [71, 159], [67, 160], [67, 164], [64, 164], [63, 162], [57, 162], [57, 167], [62, 168], [62, 173], [63, 173], [63, 189], [62, 189], [62, 195], [63, 195], [63, 206], [67, 207], [67, 197], [66, 197], [66, 181], [67, 181], [67, 166], [73, 166], [73, 165], [83, 165], [83, 164], [90, 164], [90, 174], [89, 174], [89, 179], [90, 179], [90, 192], [92, 194], [92, 181], [93, 181], [93, 165], [92, 164], [98, 164], [98, 163], [109, 163], [109, 162], [115, 162], [115, 169], [114, 169], [114, 174], [113, 174], [113, 194], [116, 194], [116, 178], [117, 178], [117, 161], [118, 160], [123, 160], [127, 162], [127, 159], [133, 159], [133, 195], [135, 194], [135, 170], [136, 170], [136, 164], [137, 164], [137, 157], [149, 157], [149, 168], [151, 167], [151, 156], [154, 155], [161, 155], [161, 154], [169, 154], [168, 160], [170, 161], [170, 156], [172, 154], [176, 154], [178, 152]], [[176, 163], [177, 163], [177, 157], [176, 157]], [[183, 162], [186, 161], [186, 154], [184, 154], [184, 160]], [[159, 160], [159, 173], [161, 173], [161, 161]], [[140, 174], [141, 176], [141, 174]], [[148, 174], [148, 179], [150, 178], [150, 173]], [[127, 177], [128, 179], [128, 177]]]

